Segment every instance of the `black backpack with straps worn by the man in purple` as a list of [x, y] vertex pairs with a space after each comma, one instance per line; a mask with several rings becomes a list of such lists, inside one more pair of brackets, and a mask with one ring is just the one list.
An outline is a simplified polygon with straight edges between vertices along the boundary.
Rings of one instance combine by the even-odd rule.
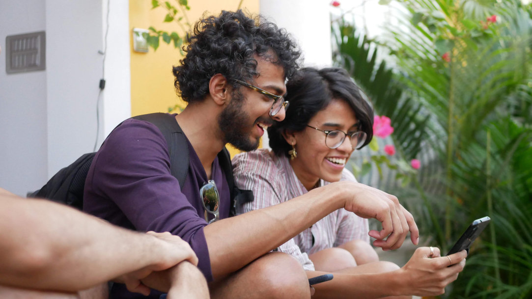
[[[167, 113], [138, 115], [132, 117], [132, 119], [149, 121], [161, 130], [164, 139], [167, 140], [168, 151], [170, 153], [170, 172], [179, 181], [179, 186], [182, 188], [185, 185], [188, 172], [188, 144], [185, 134], [179, 127], [176, 119], [173, 115]], [[82, 210], [85, 179], [87, 178], [90, 164], [95, 155], [96, 153], [82, 155], [74, 163], [58, 171], [42, 188], [29, 194], [28, 197], [47, 198], [48, 200]], [[218, 161], [226, 175], [227, 184], [231, 192], [229, 216], [234, 216], [236, 214], [235, 201], [253, 201], [253, 193], [249, 190], [240, 190], [235, 186], [232, 175], [231, 157], [227, 148], [224, 147], [218, 153]]]

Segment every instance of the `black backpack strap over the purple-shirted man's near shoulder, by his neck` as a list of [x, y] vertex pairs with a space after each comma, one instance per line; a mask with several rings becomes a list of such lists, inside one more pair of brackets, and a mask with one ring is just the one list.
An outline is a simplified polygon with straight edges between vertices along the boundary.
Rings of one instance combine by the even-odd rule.
[[161, 130], [168, 143], [170, 172], [172, 176], [177, 178], [179, 186], [182, 188], [185, 185], [188, 172], [188, 145], [185, 134], [183, 134], [174, 115], [158, 112], [138, 115], [132, 119], [149, 121]]

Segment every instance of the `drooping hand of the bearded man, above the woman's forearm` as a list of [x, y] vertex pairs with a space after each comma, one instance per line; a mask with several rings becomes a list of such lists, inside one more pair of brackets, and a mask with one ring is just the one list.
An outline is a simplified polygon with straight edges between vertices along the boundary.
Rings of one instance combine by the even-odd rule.
[[[399, 203], [397, 197], [379, 189], [355, 182], [342, 181], [341, 184], [348, 194], [344, 208], [362, 218], [375, 218], [383, 225], [380, 231], [371, 230], [369, 235], [377, 240], [373, 245], [383, 250], [401, 247], [406, 234], [410, 231], [412, 243], [419, 242], [419, 230], [412, 214]], [[333, 185], [330, 184], [330, 185]]]

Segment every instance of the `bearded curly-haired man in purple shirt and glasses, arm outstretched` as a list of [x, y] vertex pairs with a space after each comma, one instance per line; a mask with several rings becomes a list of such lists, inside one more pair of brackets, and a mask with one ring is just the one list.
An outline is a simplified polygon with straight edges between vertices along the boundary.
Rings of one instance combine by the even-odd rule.
[[[186, 52], [173, 69], [176, 88], [188, 102], [175, 117], [188, 139], [184, 186], [170, 173], [161, 132], [151, 123], [130, 119], [110, 134], [94, 158], [85, 211], [122, 227], [170, 231], [186, 240], [198, 255], [213, 298], [309, 298], [301, 265], [286, 254], [269, 252], [340, 207], [383, 223], [383, 230], [369, 233], [376, 246], [398, 248], [409, 231], [418, 243], [412, 215], [397, 198], [346, 182], [228, 218], [229, 188], [217, 154], [226, 143], [244, 151], [256, 148], [264, 129], [284, 119], [281, 96], [300, 52], [286, 31], [240, 11], [199, 21]], [[207, 225], [200, 192], [211, 180], [219, 193], [220, 220]], [[361, 281], [352, 276], [352, 284]], [[135, 295], [113, 286], [111, 296]], [[152, 292], [151, 297], [157, 296]]]

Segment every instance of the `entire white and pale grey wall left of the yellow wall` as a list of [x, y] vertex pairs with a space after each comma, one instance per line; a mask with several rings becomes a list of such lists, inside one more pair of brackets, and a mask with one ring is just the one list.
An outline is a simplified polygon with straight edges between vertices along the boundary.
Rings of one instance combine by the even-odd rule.
[[0, 2], [0, 45], [7, 35], [46, 31], [46, 70], [7, 75], [0, 54], [0, 187], [19, 195], [40, 188], [130, 117], [129, 2]]

